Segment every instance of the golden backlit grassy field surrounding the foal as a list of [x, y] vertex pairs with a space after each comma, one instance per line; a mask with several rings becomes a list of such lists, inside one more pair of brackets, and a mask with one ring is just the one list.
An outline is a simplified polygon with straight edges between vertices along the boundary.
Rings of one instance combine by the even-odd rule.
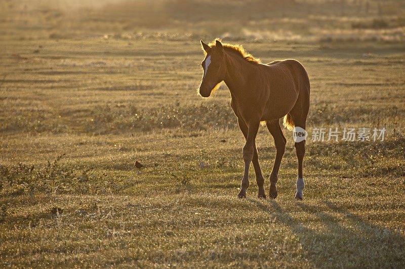
[[[0, 267], [405, 267], [403, 2], [0, 3]], [[253, 168], [236, 198], [229, 91], [196, 93], [217, 36], [306, 67], [303, 201], [286, 129], [277, 199]], [[311, 141], [362, 127], [384, 141]]]

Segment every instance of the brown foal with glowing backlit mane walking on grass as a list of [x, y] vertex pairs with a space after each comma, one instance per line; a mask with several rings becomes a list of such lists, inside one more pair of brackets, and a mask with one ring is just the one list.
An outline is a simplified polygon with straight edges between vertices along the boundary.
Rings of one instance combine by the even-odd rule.
[[[284, 117], [284, 126], [290, 131], [295, 127], [305, 130], [309, 110], [309, 79], [305, 68], [296, 60], [288, 59], [262, 64], [259, 59], [245, 52], [240, 46], [222, 44], [219, 40], [207, 45], [200, 41], [206, 54], [201, 66], [204, 68], [199, 94], [209, 97], [224, 81], [231, 93], [230, 105], [237, 117], [240, 130], [246, 138], [243, 148], [245, 172], [240, 184], [238, 198], [246, 198], [249, 187], [249, 166], [253, 162], [258, 197], [266, 198], [264, 177], [256, 149], [256, 134], [260, 122], [265, 122], [274, 138], [276, 156], [270, 174], [269, 196], [277, 197], [277, 174], [286, 148], [279, 119]], [[304, 178], [302, 165], [305, 140], [295, 143], [298, 158], [296, 199], [302, 199]]]

